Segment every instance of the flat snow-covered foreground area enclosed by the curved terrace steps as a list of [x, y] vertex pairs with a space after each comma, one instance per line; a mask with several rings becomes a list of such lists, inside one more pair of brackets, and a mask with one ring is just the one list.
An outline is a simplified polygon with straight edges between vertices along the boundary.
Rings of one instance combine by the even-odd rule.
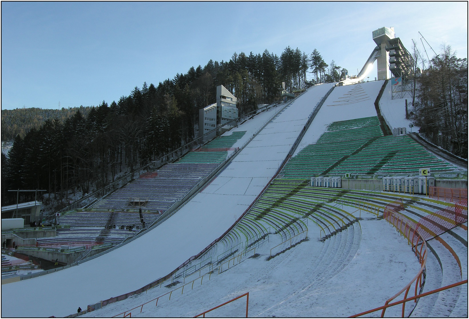
[[[219, 275], [215, 270], [210, 281], [204, 279], [200, 285], [198, 280], [193, 290], [189, 285], [183, 294], [179, 289], [171, 300], [162, 298], [158, 307], [149, 303], [142, 313], [137, 308], [132, 318], [192, 317], [248, 291], [249, 317], [345, 317], [381, 306], [410, 282], [420, 266], [407, 240], [389, 223], [366, 212], [362, 217], [361, 240], [355, 224], [354, 230], [350, 227], [325, 242], [313, 235], [269, 261], [266, 257], [273, 244], [265, 243], [256, 250], [261, 254], [256, 259], [244, 260]], [[114, 316], [174, 288], [151, 289], [84, 317]], [[242, 317], [245, 306], [242, 298], [207, 316]], [[401, 307], [394, 307], [386, 316], [397, 317], [400, 312]]]

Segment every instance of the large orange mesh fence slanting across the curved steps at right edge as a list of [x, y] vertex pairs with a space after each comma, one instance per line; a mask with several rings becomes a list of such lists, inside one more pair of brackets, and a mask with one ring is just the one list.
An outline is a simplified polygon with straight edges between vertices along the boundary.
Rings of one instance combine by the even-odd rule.
[[425, 240], [430, 240], [467, 221], [467, 200], [461, 200], [450, 207], [420, 218], [416, 229]]

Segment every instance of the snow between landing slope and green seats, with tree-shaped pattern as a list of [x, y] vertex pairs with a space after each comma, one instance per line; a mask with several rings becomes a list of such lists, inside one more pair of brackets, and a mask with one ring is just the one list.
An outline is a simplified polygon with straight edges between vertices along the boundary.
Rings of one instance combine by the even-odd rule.
[[377, 116], [374, 103], [383, 82], [336, 87], [325, 100], [293, 156], [304, 147], [316, 143], [332, 122]]

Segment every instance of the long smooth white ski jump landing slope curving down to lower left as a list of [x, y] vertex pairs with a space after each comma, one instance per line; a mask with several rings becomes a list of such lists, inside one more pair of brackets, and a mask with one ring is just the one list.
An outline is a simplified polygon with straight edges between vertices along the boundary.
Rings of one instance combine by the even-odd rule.
[[[139, 289], [202, 251], [242, 215], [272, 178], [332, 85], [317, 85], [299, 96], [210, 185], [155, 229], [75, 267], [2, 285], [1, 316], [68, 316], [78, 307], [86, 309], [88, 304]], [[232, 131], [245, 129], [240, 125]], [[26, 296], [27, 302], [19, 302]]]

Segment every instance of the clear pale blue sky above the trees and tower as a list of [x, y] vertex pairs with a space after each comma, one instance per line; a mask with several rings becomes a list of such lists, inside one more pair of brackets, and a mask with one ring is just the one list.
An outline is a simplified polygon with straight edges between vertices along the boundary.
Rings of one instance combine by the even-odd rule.
[[110, 103], [209, 59], [287, 45], [356, 74], [383, 26], [409, 51], [414, 39], [425, 56], [420, 31], [437, 53], [468, 56], [467, 2], [2, 2], [1, 107]]

